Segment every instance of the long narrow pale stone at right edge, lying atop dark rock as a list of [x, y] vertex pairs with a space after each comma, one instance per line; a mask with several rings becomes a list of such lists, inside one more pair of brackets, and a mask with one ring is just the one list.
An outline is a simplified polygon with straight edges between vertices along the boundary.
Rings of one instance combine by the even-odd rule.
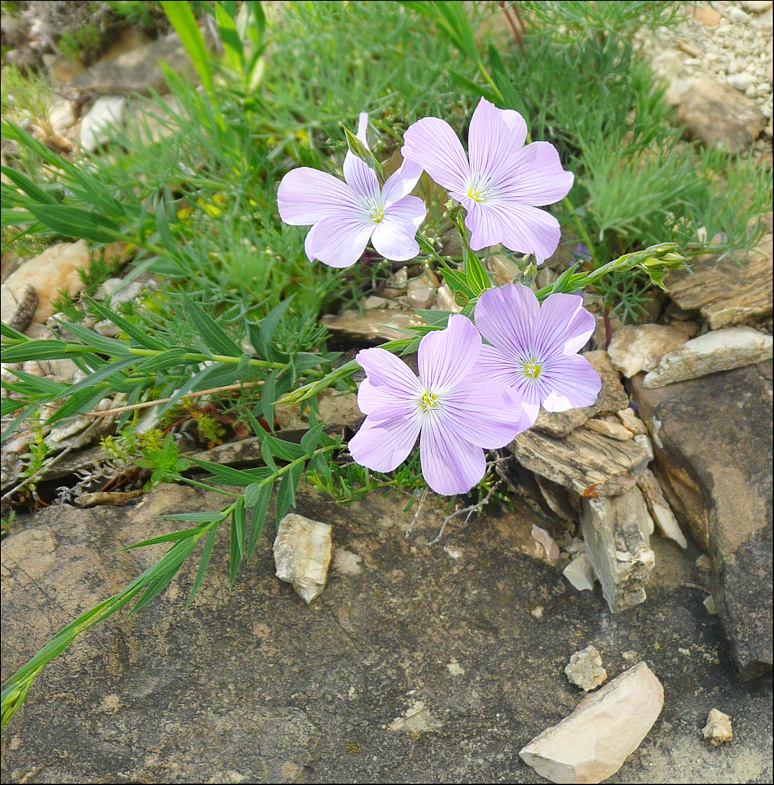
[[643, 387], [663, 387], [686, 379], [697, 379], [718, 371], [770, 360], [774, 339], [751, 327], [728, 327], [692, 338], [661, 358], [658, 367], [645, 376]]

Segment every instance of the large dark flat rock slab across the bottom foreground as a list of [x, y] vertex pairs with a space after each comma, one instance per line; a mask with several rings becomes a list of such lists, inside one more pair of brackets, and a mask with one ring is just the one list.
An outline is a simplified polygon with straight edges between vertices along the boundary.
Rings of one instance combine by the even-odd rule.
[[[133, 507], [49, 508], [13, 535], [3, 675], [159, 557], [118, 549], [158, 534], [160, 515], [217, 503], [163, 488]], [[580, 701], [564, 669], [590, 644], [608, 679], [644, 661], [664, 689], [609, 782], [771, 781], [771, 680], [739, 678], [695, 546], [655, 539], [647, 601], [612, 614], [535, 557], [544, 521], [529, 508], [452, 522], [428, 547], [441, 516], [423, 513], [407, 539], [402, 506], [302, 494], [299, 512], [333, 525], [328, 585], [309, 606], [274, 577], [273, 526], [232, 591], [216, 550], [187, 613], [184, 567], [160, 601], [42, 674], [3, 734], [3, 781], [541, 782], [519, 750]], [[713, 708], [734, 732], [716, 748], [701, 732]]]

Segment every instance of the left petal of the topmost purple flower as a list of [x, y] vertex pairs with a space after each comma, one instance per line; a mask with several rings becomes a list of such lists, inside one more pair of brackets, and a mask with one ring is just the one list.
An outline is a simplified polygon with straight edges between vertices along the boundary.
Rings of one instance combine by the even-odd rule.
[[419, 164], [438, 185], [464, 191], [470, 167], [452, 127], [437, 117], [423, 117], [406, 129], [401, 155]]

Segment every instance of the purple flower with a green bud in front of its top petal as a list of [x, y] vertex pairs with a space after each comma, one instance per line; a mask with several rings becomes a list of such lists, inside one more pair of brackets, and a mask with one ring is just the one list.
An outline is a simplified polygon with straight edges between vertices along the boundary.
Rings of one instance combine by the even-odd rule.
[[[357, 138], [366, 146], [368, 115], [360, 115]], [[344, 159], [345, 183], [325, 172], [302, 167], [282, 178], [277, 202], [282, 220], [314, 224], [306, 236], [306, 255], [331, 267], [349, 267], [370, 240], [385, 259], [403, 262], [419, 253], [414, 236], [425, 218], [421, 199], [409, 196], [422, 168], [408, 161], [379, 188], [376, 172], [351, 152]]]

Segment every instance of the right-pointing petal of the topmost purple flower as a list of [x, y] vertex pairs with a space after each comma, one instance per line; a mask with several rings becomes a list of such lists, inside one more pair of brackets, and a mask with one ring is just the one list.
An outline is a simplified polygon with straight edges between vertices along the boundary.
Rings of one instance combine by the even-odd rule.
[[564, 199], [575, 175], [562, 169], [559, 153], [548, 142], [533, 142], [511, 159], [497, 195], [519, 204], [546, 205]]

